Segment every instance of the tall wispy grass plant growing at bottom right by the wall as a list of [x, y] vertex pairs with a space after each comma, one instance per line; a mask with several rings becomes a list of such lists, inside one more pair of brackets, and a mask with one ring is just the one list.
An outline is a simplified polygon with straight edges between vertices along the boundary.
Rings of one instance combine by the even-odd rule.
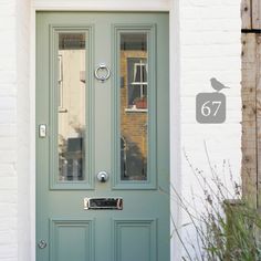
[[196, 200], [201, 201], [202, 208], [199, 208], [196, 201], [188, 202], [171, 186], [181, 209], [188, 216], [189, 221], [182, 225], [184, 230], [189, 230], [190, 227], [190, 230], [196, 232], [196, 238], [194, 237], [189, 242], [173, 221], [175, 232], [185, 250], [182, 260], [261, 261], [260, 213], [243, 199], [241, 187], [232, 180], [230, 169], [232, 191], [231, 186], [222, 182], [217, 169], [211, 166], [206, 145], [205, 149], [211, 173], [210, 180], [205, 177], [202, 170], [191, 165], [185, 153], [189, 167], [202, 190], [202, 198]]

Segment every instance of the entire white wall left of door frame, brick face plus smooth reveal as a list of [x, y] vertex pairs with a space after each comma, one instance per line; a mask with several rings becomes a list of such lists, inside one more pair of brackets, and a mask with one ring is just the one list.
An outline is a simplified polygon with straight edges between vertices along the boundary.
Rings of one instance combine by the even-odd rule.
[[29, 0], [0, 2], [0, 260], [30, 260]]

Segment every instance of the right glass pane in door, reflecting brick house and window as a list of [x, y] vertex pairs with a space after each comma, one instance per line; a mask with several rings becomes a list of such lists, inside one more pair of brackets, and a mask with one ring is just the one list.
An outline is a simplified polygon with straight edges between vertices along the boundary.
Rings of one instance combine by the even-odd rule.
[[121, 33], [121, 179], [147, 179], [147, 34]]

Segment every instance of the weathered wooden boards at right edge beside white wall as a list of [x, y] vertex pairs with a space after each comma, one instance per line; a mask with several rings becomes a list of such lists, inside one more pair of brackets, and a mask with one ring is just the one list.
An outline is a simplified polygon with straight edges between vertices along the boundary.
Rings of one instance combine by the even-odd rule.
[[[261, 2], [242, 0], [242, 189], [261, 213]], [[255, 228], [260, 246], [261, 231]]]

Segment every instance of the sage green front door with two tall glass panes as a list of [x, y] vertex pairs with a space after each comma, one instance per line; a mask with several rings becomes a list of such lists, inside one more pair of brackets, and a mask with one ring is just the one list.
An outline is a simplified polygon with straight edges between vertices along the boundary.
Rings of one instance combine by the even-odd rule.
[[168, 14], [36, 15], [36, 260], [169, 261]]

